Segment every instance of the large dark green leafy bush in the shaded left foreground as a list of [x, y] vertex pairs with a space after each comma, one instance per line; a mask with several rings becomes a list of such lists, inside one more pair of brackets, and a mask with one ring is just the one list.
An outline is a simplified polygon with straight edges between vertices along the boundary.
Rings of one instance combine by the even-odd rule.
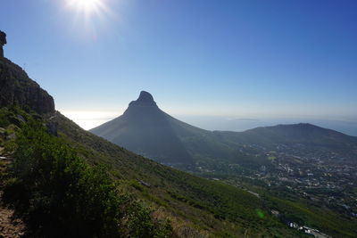
[[25, 217], [29, 234], [45, 237], [166, 237], [170, 224], [120, 193], [106, 169], [90, 167], [41, 126], [23, 127], [6, 201]]

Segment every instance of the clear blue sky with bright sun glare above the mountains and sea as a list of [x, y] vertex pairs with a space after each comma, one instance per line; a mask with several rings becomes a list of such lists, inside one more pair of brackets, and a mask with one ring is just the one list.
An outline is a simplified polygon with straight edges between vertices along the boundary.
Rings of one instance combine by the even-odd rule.
[[356, 1], [68, 1], [4, 0], [0, 29], [72, 119], [146, 90], [174, 115], [357, 121]]

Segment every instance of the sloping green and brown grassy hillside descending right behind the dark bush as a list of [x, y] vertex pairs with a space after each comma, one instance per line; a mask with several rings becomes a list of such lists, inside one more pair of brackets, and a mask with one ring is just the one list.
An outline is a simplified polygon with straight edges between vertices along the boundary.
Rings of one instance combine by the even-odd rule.
[[220, 182], [191, 176], [147, 160], [92, 135], [57, 113], [50, 120], [59, 135], [91, 164], [111, 166], [125, 189], [137, 193], [157, 211], [170, 217], [174, 230], [214, 236], [296, 235], [269, 216], [262, 201], [251, 193]]

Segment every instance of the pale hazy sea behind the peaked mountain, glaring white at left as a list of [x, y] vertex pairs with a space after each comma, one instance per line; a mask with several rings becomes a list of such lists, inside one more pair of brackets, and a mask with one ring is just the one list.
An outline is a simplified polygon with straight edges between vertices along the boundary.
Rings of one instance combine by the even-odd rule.
[[[121, 111], [60, 111], [80, 127], [88, 130], [119, 117], [124, 113], [125, 109]], [[255, 127], [270, 127], [278, 124], [311, 123], [346, 135], [357, 136], [357, 117], [339, 118], [338, 116], [330, 115], [326, 118], [321, 118], [309, 115], [304, 117], [296, 115], [250, 115], [251, 117], [247, 118], [239, 115], [188, 115], [165, 112], [176, 119], [206, 130], [245, 131]]]

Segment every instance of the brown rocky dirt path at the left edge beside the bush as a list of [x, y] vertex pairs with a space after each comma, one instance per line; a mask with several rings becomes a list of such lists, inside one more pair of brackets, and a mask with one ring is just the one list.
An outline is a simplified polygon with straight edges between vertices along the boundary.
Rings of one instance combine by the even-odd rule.
[[[0, 157], [0, 172], [11, 163], [11, 159]], [[0, 238], [21, 237], [24, 234], [25, 226], [21, 219], [13, 219], [13, 210], [8, 209], [3, 204], [3, 185], [0, 181]]]

